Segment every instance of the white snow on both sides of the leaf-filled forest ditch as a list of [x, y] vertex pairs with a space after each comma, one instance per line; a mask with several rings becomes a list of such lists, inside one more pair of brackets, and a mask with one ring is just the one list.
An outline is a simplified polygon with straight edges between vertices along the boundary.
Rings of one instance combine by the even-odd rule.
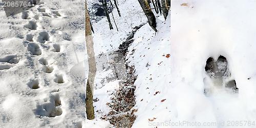
[[[88, 1], [92, 4], [93, 1]], [[147, 23], [147, 19], [138, 1], [118, 1], [121, 17], [116, 9], [113, 15], [118, 27], [116, 29], [112, 14], [111, 22], [114, 30], [109, 30], [108, 21], [103, 18], [97, 23], [93, 23], [95, 33], [93, 34], [95, 54], [106, 54], [118, 50], [120, 44], [127, 38], [132, 28]], [[90, 8], [90, 4], [88, 7]], [[153, 5], [152, 5], [153, 7]], [[90, 9], [89, 9], [90, 10]], [[154, 11], [155, 12], [155, 11]], [[163, 15], [156, 14], [157, 29], [155, 31], [147, 24], [142, 26], [134, 35], [134, 42], [129, 47], [129, 53], [125, 59], [129, 66], [135, 66], [135, 74], [138, 75], [134, 85], [136, 86], [136, 104], [133, 109], [138, 110], [135, 115], [137, 119], [132, 127], [156, 127], [157, 123], [165, 123], [163, 127], [168, 127], [170, 121], [170, 12], [165, 21]], [[97, 59], [99, 61], [108, 61]], [[100, 69], [101, 70], [101, 69]], [[95, 79], [94, 98], [99, 101], [94, 102], [96, 113], [94, 120], [86, 120], [88, 127], [109, 127], [110, 124], [100, 117], [108, 114], [110, 108], [106, 103], [110, 102], [111, 93], [119, 87], [118, 80], [106, 83], [102, 86], [100, 81], [108, 73], [98, 71]], [[86, 77], [88, 76], [88, 70]], [[101, 88], [102, 87], [102, 88]], [[163, 100], [163, 101], [162, 101]], [[154, 119], [156, 118], [156, 119]], [[149, 121], [148, 119], [152, 120]], [[168, 124], [166, 124], [168, 123]]]

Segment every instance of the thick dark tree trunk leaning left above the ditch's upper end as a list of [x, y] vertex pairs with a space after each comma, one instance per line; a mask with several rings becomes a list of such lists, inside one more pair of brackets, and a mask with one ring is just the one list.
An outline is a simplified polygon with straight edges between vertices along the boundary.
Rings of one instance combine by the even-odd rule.
[[152, 10], [150, 9], [150, 6], [148, 5], [148, 3], [146, 2], [146, 0], [138, 0], [140, 3], [141, 8], [143, 9], [147, 19], [148, 19], [148, 23], [150, 24], [151, 28], [157, 32], [157, 23], [156, 23], [156, 17], [154, 15], [154, 13], [152, 12]]

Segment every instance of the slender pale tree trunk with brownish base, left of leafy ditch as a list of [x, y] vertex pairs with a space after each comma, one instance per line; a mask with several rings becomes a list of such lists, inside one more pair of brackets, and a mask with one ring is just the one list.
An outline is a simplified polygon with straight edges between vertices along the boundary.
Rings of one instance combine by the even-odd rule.
[[90, 24], [90, 16], [87, 10], [86, 3], [86, 48], [89, 61], [89, 75], [86, 84], [86, 114], [87, 119], [94, 119], [94, 106], [93, 106], [93, 90], [94, 90], [94, 78], [96, 74], [96, 63], [93, 49], [93, 37]]

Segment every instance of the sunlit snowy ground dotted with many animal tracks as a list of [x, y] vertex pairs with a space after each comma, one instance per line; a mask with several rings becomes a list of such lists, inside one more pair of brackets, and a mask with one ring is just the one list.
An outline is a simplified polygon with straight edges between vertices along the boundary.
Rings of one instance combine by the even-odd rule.
[[84, 9], [45, 0], [6, 17], [0, 6], [0, 127], [85, 126]]

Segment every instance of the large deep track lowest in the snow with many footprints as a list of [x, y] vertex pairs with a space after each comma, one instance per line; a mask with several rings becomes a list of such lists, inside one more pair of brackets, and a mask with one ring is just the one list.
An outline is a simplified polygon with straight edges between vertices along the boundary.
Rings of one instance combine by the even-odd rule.
[[61, 101], [59, 94], [51, 95], [50, 102], [42, 105], [42, 108], [46, 110], [46, 116], [55, 117], [62, 114], [62, 109], [60, 108]]

